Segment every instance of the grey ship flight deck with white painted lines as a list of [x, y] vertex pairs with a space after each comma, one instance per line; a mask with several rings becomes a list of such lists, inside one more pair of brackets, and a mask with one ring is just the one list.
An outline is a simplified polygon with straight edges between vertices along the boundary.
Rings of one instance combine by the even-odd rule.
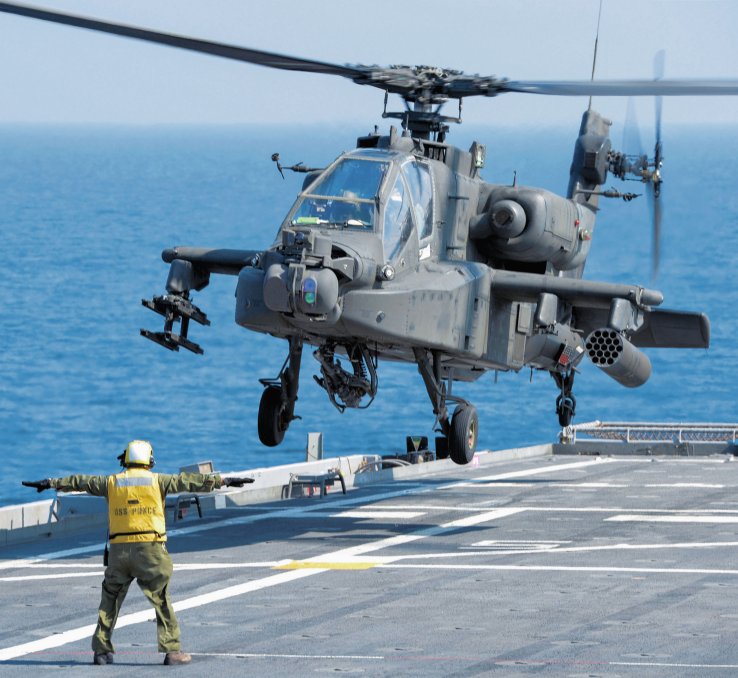
[[[541, 446], [377, 471], [346, 494], [190, 511], [169, 531], [193, 655], [174, 670], [736, 675], [734, 459]], [[136, 587], [115, 664], [91, 665], [104, 538], [92, 527], [2, 548], [3, 676], [162, 670]]]

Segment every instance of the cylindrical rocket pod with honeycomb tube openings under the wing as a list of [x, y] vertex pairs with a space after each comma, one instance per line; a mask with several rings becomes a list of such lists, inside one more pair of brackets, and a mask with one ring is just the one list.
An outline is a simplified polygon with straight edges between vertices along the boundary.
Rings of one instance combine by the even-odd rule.
[[623, 386], [643, 386], [651, 376], [648, 356], [617, 330], [609, 327], [595, 330], [587, 337], [585, 346], [590, 360]]

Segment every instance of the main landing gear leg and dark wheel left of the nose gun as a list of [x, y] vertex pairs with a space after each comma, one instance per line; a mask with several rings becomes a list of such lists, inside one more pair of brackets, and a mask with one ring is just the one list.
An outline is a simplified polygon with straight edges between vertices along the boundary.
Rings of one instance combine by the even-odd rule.
[[302, 339], [290, 337], [290, 352], [276, 379], [259, 379], [264, 392], [259, 401], [259, 440], [267, 447], [275, 447], [284, 439], [295, 416], [295, 402], [300, 382]]

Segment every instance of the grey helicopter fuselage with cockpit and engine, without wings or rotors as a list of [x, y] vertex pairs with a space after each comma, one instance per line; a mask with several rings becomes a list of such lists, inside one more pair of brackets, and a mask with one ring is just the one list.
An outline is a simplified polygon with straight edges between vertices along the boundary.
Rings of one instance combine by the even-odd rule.
[[483, 154], [476, 143], [360, 139], [308, 176], [272, 247], [240, 272], [236, 322], [362, 343], [385, 359], [412, 361], [423, 347], [456, 378], [522, 367], [535, 303], [493, 294], [495, 270], [581, 270], [594, 212], [485, 182]]

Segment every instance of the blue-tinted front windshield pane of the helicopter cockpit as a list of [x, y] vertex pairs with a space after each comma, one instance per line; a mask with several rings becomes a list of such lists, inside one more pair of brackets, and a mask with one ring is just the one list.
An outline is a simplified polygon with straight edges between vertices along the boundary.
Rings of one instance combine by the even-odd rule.
[[387, 162], [344, 158], [301, 197], [292, 224], [373, 228], [377, 196], [388, 168]]

